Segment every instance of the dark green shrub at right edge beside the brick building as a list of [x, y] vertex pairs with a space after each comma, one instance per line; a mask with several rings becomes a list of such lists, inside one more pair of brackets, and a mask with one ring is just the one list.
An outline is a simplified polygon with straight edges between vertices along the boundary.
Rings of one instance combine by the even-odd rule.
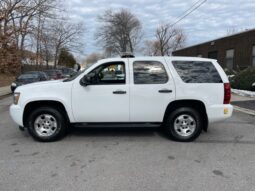
[[234, 89], [255, 91], [252, 84], [255, 82], [255, 68], [247, 68], [230, 79], [231, 87]]

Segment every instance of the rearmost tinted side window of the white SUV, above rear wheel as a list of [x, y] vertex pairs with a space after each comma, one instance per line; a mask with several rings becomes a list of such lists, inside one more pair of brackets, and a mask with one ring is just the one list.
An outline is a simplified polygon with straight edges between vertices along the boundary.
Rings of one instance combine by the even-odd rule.
[[222, 79], [211, 62], [173, 61], [177, 73], [185, 83], [222, 83]]

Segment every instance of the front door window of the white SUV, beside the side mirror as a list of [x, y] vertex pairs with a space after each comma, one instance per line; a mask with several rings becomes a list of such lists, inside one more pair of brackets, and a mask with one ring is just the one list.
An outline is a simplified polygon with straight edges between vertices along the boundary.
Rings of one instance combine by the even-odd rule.
[[123, 62], [103, 64], [91, 71], [88, 76], [91, 77], [93, 84], [125, 84], [125, 64]]

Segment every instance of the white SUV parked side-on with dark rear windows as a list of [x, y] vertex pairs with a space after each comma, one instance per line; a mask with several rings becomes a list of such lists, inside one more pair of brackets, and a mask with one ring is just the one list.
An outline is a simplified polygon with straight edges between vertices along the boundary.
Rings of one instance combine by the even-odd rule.
[[192, 141], [211, 122], [231, 117], [230, 85], [216, 60], [190, 57], [110, 58], [76, 76], [18, 87], [13, 120], [39, 141], [68, 127], [163, 127]]

